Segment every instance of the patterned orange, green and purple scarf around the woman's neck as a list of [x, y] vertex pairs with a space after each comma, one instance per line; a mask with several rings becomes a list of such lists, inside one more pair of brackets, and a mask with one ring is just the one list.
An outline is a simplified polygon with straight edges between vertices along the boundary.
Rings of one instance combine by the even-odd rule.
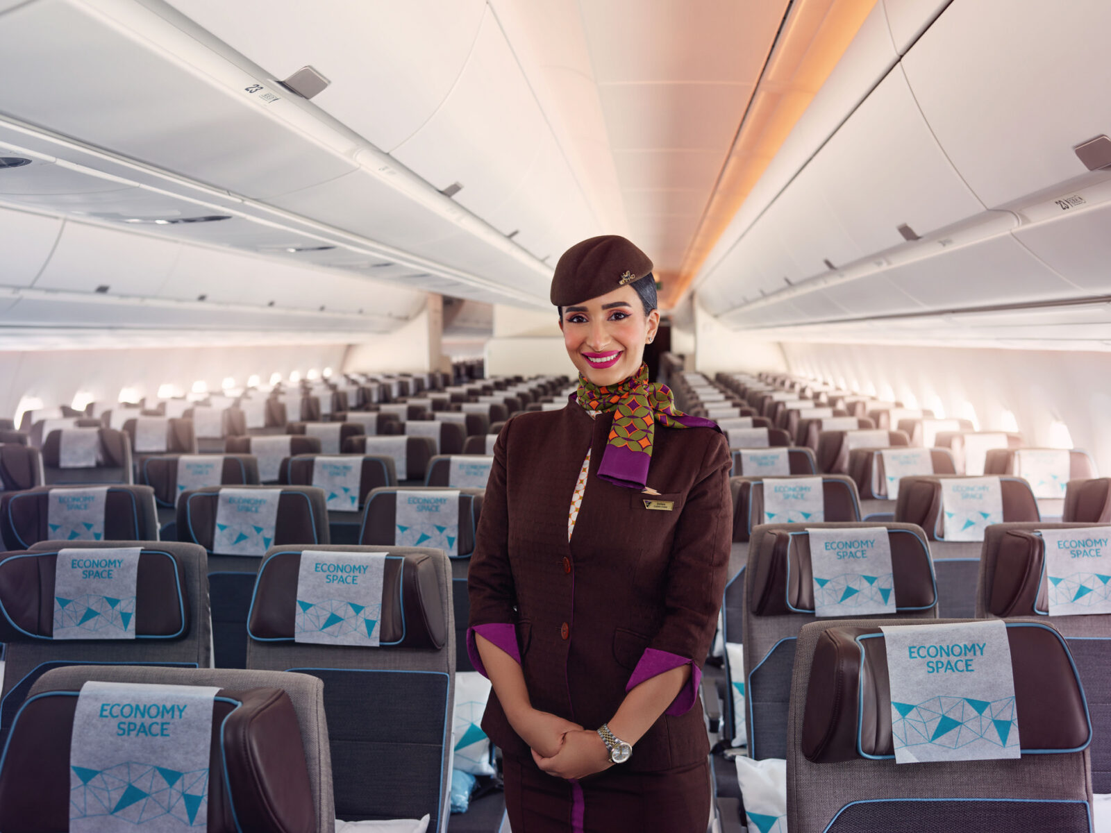
[[648, 485], [655, 423], [668, 428], [713, 428], [717, 423], [678, 410], [665, 384], [648, 381], [648, 365], [611, 385], [597, 385], [579, 374], [579, 404], [588, 411], [613, 411], [613, 425], [598, 476], [628, 489]]

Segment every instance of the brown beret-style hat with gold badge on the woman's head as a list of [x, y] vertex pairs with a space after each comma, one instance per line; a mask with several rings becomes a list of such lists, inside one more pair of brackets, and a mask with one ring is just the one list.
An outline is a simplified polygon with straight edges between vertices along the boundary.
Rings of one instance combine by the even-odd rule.
[[589, 301], [652, 272], [652, 261], [618, 234], [575, 243], [559, 259], [552, 277], [551, 301], [557, 307]]

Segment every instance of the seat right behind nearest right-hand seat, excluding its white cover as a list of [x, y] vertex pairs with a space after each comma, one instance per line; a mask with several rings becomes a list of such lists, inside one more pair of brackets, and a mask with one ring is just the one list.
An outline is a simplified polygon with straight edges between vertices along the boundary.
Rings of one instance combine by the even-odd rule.
[[[814, 523], [807, 526], [887, 529], [898, 615], [914, 620], [937, 618], [933, 564], [921, 529], [913, 524], [863, 522]], [[749, 755], [755, 759], [785, 757], [794, 643], [799, 630], [817, 620], [805, 528], [800, 524], [758, 526], [749, 545], [744, 585], [744, 691], [749, 711]], [[727, 616], [730, 613], [727, 612]]]

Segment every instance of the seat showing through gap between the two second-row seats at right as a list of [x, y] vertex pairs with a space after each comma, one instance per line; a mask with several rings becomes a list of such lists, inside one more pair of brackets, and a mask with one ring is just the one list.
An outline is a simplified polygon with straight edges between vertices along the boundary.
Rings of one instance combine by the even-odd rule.
[[[938, 574], [941, 614], [970, 618], [975, 615], [975, 578], [980, 569], [983, 526], [995, 519], [981, 519], [979, 515], [973, 519], [961, 514], [954, 515], [954, 521], [947, 526], [949, 513], [943, 510], [942, 483], [954, 480], [981, 479], [960, 475], [902, 478], [899, 481], [899, 499], [895, 501], [895, 520], [900, 523], [917, 523], [930, 540], [930, 551]], [[1002, 504], [1002, 518], [999, 520], [1004, 523], [1039, 520], [1038, 502], [1027, 481], [1021, 478], [999, 478], [999, 488]], [[949, 538], [959, 540], [947, 541], [947, 530]]]

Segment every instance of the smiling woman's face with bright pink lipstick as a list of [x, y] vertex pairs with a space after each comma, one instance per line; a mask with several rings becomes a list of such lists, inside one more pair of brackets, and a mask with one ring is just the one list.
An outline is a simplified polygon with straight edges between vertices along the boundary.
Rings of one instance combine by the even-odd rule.
[[644, 360], [644, 344], [655, 338], [660, 313], [644, 314], [630, 285], [563, 308], [559, 322], [563, 344], [574, 367], [598, 385], [617, 384], [635, 373]]

